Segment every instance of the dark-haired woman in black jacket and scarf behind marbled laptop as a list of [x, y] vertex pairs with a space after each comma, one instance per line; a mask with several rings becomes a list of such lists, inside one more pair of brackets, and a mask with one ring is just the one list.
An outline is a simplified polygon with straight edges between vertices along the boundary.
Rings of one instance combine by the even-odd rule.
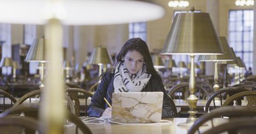
[[108, 108], [103, 98], [106, 97], [111, 103], [113, 92], [163, 92], [162, 118], [173, 117], [169, 98], [161, 77], [154, 69], [146, 42], [140, 38], [129, 39], [118, 53], [116, 60], [115, 72], [109, 71], [103, 74], [102, 81], [92, 97], [88, 109], [89, 117], [111, 115], [111, 108]]

